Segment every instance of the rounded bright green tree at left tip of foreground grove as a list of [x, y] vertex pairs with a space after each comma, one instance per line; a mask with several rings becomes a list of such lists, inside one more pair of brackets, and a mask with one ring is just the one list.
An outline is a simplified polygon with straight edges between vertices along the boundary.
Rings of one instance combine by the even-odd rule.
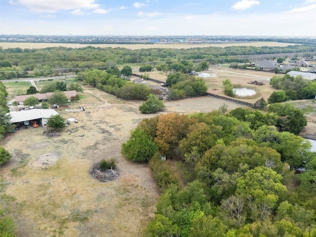
[[132, 161], [148, 161], [157, 151], [158, 146], [141, 128], [131, 131], [130, 138], [121, 145], [122, 155]]

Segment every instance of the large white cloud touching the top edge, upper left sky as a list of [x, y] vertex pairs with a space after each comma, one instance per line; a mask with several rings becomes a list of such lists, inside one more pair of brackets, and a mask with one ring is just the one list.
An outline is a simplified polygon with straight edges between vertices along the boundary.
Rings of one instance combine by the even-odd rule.
[[58, 12], [61, 10], [73, 10], [73, 9], [95, 9], [99, 7], [99, 4], [95, 3], [95, 0], [17, 0], [10, 3], [15, 5], [24, 5], [36, 12]]

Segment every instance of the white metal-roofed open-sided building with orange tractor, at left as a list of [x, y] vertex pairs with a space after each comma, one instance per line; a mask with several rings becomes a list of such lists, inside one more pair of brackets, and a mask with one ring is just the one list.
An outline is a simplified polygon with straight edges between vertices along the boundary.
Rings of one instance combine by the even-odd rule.
[[10, 113], [11, 123], [23, 125], [25, 121], [36, 121], [37, 124], [41, 126], [47, 125], [47, 120], [53, 115], [58, 115], [55, 110], [40, 110], [40, 109], [33, 109], [33, 110], [23, 110], [23, 111], [11, 111]]

